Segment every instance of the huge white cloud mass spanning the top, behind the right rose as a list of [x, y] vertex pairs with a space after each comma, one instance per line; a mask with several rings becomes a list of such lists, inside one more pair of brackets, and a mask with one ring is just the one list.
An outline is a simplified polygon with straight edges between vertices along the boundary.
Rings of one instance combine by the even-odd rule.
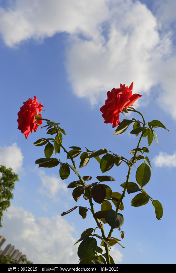
[[143, 103], [150, 95], [176, 118], [176, 108], [170, 108], [176, 101], [175, 30], [170, 27], [175, 22], [175, 1], [156, 1], [153, 13], [132, 0], [10, 3], [0, 8], [0, 33], [6, 45], [69, 34], [66, 69], [77, 96], [95, 104], [120, 83], [134, 82], [134, 92], [144, 95]]

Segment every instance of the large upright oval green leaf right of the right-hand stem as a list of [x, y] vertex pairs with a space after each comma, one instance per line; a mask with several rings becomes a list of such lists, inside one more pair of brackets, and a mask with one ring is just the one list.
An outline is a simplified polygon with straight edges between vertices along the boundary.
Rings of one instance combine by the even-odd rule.
[[150, 167], [146, 163], [142, 163], [136, 171], [136, 181], [141, 186], [141, 188], [149, 182], [150, 176]]

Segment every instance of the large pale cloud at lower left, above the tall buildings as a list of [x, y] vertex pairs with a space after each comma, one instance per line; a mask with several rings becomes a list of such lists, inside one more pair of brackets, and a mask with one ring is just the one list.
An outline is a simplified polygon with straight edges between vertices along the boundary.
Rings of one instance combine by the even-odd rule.
[[[13, 231], [11, 227], [13, 226]], [[1, 234], [35, 264], [77, 264], [75, 228], [61, 216], [35, 218], [22, 207], [4, 213]], [[5, 247], [5, 245], [4, 245]], [[4, 249], [2, 247], [2, 249]]]

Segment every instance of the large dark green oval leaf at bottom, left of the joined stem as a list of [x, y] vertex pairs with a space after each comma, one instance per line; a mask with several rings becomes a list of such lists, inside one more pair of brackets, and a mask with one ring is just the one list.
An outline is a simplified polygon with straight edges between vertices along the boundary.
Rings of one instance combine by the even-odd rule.
[[83, 240], [78, 247], [78, 257], [79, 259], [85, 259], [91, 256], [97, 248], [97, 240], [95, 238], [86, 238]]

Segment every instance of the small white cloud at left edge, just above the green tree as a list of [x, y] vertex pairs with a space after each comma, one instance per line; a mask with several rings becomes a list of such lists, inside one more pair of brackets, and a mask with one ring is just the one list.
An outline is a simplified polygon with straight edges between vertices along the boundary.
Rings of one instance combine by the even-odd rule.
[[0, 165], [12, 168], [15, 173], [22, 170], [23, 155], [16, 143], [0, 147]]

